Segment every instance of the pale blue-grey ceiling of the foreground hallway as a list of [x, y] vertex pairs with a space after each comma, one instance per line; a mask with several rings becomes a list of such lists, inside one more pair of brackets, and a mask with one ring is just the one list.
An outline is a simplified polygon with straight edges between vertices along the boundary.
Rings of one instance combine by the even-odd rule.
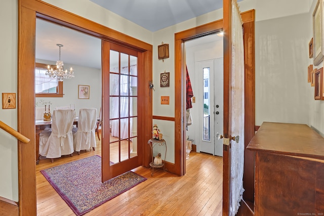
[[90, 1], [152, 32], [223, 8], [223, 0]]

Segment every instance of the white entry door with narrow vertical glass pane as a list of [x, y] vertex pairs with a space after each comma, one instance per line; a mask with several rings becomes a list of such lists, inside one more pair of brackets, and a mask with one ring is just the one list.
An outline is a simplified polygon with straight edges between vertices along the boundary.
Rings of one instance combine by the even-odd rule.
[[222, 156], [222, 142], [215, 131], [223, 131], [222, 59], [196, 63], [199, 74], [199, 144], [200, 152]]

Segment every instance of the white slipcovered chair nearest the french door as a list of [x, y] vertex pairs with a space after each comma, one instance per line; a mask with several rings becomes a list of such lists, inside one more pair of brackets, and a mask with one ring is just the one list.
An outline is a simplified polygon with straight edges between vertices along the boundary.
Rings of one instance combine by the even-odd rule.
[[77, 131], [73, 133], [74, 150], [80, 154], [80, 150], [95, 150], [96, 144], [97, 109], [85, 108], [79, 110]]

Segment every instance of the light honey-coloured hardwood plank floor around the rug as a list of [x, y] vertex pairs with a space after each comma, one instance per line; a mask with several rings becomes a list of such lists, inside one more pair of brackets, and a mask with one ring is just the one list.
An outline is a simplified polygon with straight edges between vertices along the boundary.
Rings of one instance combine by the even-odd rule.
[[[95, 151], [62, 156], [51, 163], [41, 158], [36, 165], [37, 215], [75, 215], [52, 188], [42, 169], [92, 155], [101, 155], [101, 142]], [[107, 201], [85, 215], [222, 215], [223, 158], [191, 152], [183, 177], [154, 169], [133, 169], [147, 178], [143, 183]]]

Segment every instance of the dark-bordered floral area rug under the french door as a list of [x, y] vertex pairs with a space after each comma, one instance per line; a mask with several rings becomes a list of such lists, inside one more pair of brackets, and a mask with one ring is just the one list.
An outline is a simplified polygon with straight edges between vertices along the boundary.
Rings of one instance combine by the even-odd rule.
[[41, 172], [76, 215], [83, 215], [146, 180], [128, 171], [102, 183], [101, 157], [98, 155]]

